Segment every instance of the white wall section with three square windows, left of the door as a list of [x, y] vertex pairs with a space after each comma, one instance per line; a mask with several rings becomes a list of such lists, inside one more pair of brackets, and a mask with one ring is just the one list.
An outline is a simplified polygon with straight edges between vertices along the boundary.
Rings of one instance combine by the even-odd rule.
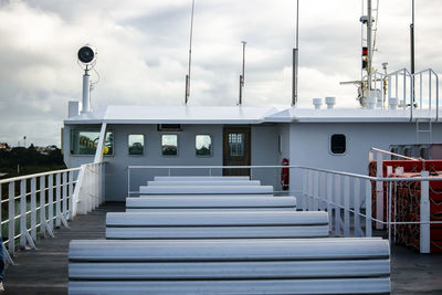
[[[222, 126], [221, 125], [183, 125], [182, 131], [158, 131], [157, 125], [110, 125], [114, 131], [114, 157], [108, 159], [106, 167], [106, 200], [123, 201], [127, 197], [127, 166], [220, 166], [222, 165]], [[145, 135], [145, 154], [128, 155], [128, 135]], [[178, 156], [161, 155], [161, 135], [178, 135]], [[210, 135], [212, 139], [212, 156], [197, 157], [194, 136]], [[208, 169], [171, 170], [171, 175], [208, 176]], [[130, 190], [146, 186], [154, 176], [167, 176], [167, 169], [134, 169], [130, 171]], [[213, 170], [212, 175], [221, 175]]]

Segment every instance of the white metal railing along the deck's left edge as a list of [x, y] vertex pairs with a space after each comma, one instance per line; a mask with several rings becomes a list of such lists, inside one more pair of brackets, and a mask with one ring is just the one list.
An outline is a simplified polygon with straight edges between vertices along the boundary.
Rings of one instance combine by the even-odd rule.
[[1, 246], [9, 263], [17, 245], [35, 249], [38, 235], [53, 238], [54, 226], [69, 228], [69, 220], [102, 203], [103, 176], [104, 164], [87, 164], [0, 180]]

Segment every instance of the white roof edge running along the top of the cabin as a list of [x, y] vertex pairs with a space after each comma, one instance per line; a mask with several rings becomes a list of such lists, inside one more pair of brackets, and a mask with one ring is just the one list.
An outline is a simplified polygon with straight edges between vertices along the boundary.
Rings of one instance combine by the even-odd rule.
[[[414, 112], [432, 118], [435, 112]], [[408, 123], [406, 109], [311, 109], [276, 106], [108, 106], [64, 119], [64, 125], [107, 124], [265, 124], [265, 123]], [[440, 122], [438, 122], [440, 123]]]

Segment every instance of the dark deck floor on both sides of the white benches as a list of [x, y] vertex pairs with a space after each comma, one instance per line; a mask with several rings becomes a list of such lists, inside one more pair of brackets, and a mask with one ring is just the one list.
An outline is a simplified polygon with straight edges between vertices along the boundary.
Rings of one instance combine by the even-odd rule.
[[[67, 294], [67, 250], [71, 240], [104, 239], [106, 212], [124, 211], [124, 203], [106, 203], [55, 230], [55, 239], [38, 241], [38, 250], [19, 251], [8, 266], [3, 294]], [[442, 294], [442, 255], [421, 255], [393, 246], [391, 294]]]

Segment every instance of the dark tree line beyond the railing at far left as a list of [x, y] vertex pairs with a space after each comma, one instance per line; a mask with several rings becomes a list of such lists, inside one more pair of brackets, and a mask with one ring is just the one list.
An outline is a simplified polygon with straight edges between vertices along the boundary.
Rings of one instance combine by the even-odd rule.
[[2, 178], [65, 168], [62, 151], [56, 146], [40, 148], [31, 144], [28, 148], [0, 149], [0, 173], [7, 173]]

